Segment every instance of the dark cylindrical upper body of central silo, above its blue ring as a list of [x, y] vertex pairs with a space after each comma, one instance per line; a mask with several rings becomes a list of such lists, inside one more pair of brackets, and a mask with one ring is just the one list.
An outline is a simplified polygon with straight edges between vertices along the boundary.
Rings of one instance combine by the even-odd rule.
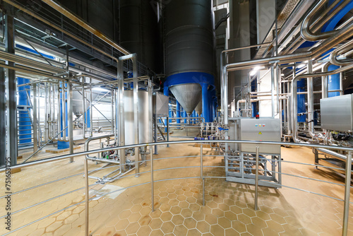
[[212, 0], [171, 0], [165, 4], [166, 73], [214, 74]]

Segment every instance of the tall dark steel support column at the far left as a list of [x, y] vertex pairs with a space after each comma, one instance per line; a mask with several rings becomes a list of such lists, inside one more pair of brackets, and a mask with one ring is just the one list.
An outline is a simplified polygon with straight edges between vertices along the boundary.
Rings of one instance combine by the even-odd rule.
[[[5, 16], [5, 49], [6, 52], [15, 54], [15, 29], [13, 16]], [[6, 61], [8, 66], [15, 66], [11, 61]], [[11, 165], [17, 164], [17, 102], [16, 102], [16, 71], [8, 69], [6, 73], [6, 157], [10, 158]]]

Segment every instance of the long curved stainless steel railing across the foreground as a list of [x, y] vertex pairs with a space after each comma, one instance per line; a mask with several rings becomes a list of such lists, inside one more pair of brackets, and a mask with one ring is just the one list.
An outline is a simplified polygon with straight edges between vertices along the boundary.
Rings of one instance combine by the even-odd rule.
[[[102, 137], [101, 137], [102, 138]], [[161, 145], [172, 145], [172, 144], [187, 144], [187, 143], [201, 143], [201, 146], [200, 146], [200, 155], [189, 155], [189, 156], [181, 156], [181, 157], [171, 157], [171, 158], [158, 158], [158, 159], [154, 159], [153, 157], [153, 153], [152, 153], [152, 146], [161, 146]], [[78, 206], [82, 203], [85, 203], [85, 235], [88, 235], [88, 228], [89, 228], [89, 225], [88, 225], [88, 220], [89, 220], [89, 202], [94, 199], [94, 197], [90, 198], [89, 196], [89, 189], [90, 187], [92, 186], [95, 186], [96, 184], [91, 184], [89, 185], [88, 184], [88, 174], [90, 172], [95, 172], [97, 170], [105, 170], [105, 169], [109, 169], [109, 168], [112, 168], [112, 167], [122, 167], [124, 165], [127, 165], [127, 164], [120, 164], [119, 165], [116, 165], [116, 162], [115, 161], [112, 161], [112, 160], [107, 160], [107, 159], [102, 159], [102, 158], [90, 158], [88, 155], [90, 154], [96, 154], [96, 153], [102, 153], [103, 151], [104, 152], [107, 152], [107, 151], [119, 151], [121, 149], [126, 149], [126, 148], [139, 148], [139, 147], [143, 147], [143, 148], [150, 148], [150, 160], [141, 160], [137, 163], [148, 163], [150, 162], [150, 171], [145, 171], [145, 172], [140, 172], [139, 174], [145, 174], [145, 173], [150, 173], [150, 181], [149, 182], [144, 182], [144, 183], [140, 183], [140, 184], [135, 184], [135, 185], [131, 185], [131, 186], [128, 186], [128, 187], [125, 187], [125, 188], [122, 188], [122, 189], [118, 189], [118, 190], [115, 190], [115, 191], [110, 191], [108, 193], [105, 193], [103, 194], [102, 196], [106, 196], [107, 194], [112, 194], [116, 191], [123, 191], [125, 189], [130, 189], [130, 188], [133, 188], [133, 187], [138, 187], [138, 186], [142, 186], [142, 185], [145, 185], [145, 184], [150, 184], [151, 186], [151, 199], [152, 199], [152, 211], [154, 211], [154, 183], [155, 182], [161, 182], [161, 181], [168, 181], [168, 180], [173, 180], [173, 179], [191, 179], [191, 178], [200, 178], [201, 181], [202, 181], [202, 195], [203, 195], [203, 205], [205, 205], [205, 179], [208, 179], [208, 178], [226, 178], [224, 176], [220, 176], [220, 177], [210, 177], [210, 176], [205, 176], [203, 175], [203, 168], [204, 167], [217, 167], [217, 168], [220, 168], [220, 167], [224, 167], [224, 166], [212, 166], [212, 165], [203, 165], [203, 158], [204, 157], [225, 157], [225, 155], [203, 155], [203, 145], [204, 144], [207, 144], [207, 143], [252, 143], [254, 145], [255, 150], [254, 150], [254, 153], [256, 153], [256, 158], [255, 158], [255, 169], [251, 167], [251, 170], [255, 170], [255, 175], [256, 175], [256, 188], [255, 188], [255, 208], [257, 208], [257, 198], [258, 198], [258, 182], [261, 181], [258, 179], [258, 163], [259, 163], [259, 145], [262, 145], [262, 144], [265, 144], [265, 145], [284, 145], [284, 146], [300, 146], [300, 147], [307, 147], [307, 148], [325, 148], [325, 149], [329, 149], [329, 150], [338, 150], [338, 151], [347, 151], [348, 152], [348, 155], [347, 155], [347, 159], [346, 159], [346, 167], [345, 169], [343, 168], [340, 168], [340, 167], [328, 167], [328, 166], [325, 166], [325, 165], [316, 165], [316, 164], [308, 164], [308, 163], [297, 163], [297, 162], [293, 162], [293, 161], [287, 161], [287, 160], [278, 160], [279, 162], [281, 163], [290, 163], [290, 164], [293, 164], [293, 165], [311, 165], [313, 167], [326, 167], [326, 168], [330, 168], [330, 169], [333, 169], [333, 170], [341, 170], [341, 171], [345, 171], [346, 173], [346, 179], [345, 179], [345, 184], [339, 184], [339, 183], [335, 183], [335, 182], [329, 182], [329, 181], [325, 181], [325, 180], [322, 180], [322, 179], [314, 179], [314, 178], [310, 178], [310, 177], [303, 177], [303, 176], [299, 176], [299, 175], [292, 175], [292, 174], [289, 174], [289, 173], [284, 173], [284, 172], [275, 172], [275, 171], [270, 171], [268, 170], [268, 172], [271, 172], [273, 174], [282, 174], [282, 175], [286, 175], [286, 176], [291, 176], [291, 177], [299, 177], [301, 179], [310, 179], [310, 180], [313, 180], [313, 181], [317, 181], [317, 182], [325, 182], [325, 183], [328, 183], [328, 184], [335, 184], [335, 185], [338, 185], [338, 186], [341, 186], [341, 187], [345, 187], [345, 199], [339, 199], [339, 198], [336, 198], [336, 197], [333, 197], [333, 196], [327, 196], [327, 195], [324, 195], [324, 194], [320, 194], [320, 193], [316, 193], [316, 192], [313, 192], [313, 191], [308, 191], [306, 189], [299, 189], [297, 187], [290, 187], [290, 186], [285, 186], [283, 184], [281, 184], [280, 186], [281, 187], [285, 187], [285, 188], [289, 188], [289, 189], [295, 189], [295, 190], [298, 190], [298, 191], [305, 191], [305, 192], [308, 192], [310, 194], [316, 194], [316, 195], [319, 195], [319, 196], [325, 196], [325, 197], [328, 197], [330, 199], [335, 199], [337, 201], [344, 201], [344, 213], [343, 213], [343, 223], [342, 223], [342, 235], [347, 235], [347, 228], [348, 228], [348, 215], [349, 215], [349, 203], [352, 203], [352, 202], [349, 202], [349, 196], [350, 196], [350, 183], [351, 183], [351, 174], [352, 174], [352, 152], [353, 152], [353, 148], [346, 148], [346, 147], [340, 147], [340, 146], [323, 146], [323, 145], [317, 145], [317, 144], [309, 144], [309, 143], [283, 143], [283, 142], [274, 142], [274, 141], [237, 141], [237, 140], [214, 140], [214, 141], [169, 141], [169, 142], [160, 142], [160, 143], [141, 143], [141, 144], [136, 144], [136, 145], [129, 145], [129, 146], [120, 146], [120, 147], [112, 147], [112, 148], [104, 148], [104, 149], [97, 149], [97, 150], [92, 150], [92, 151], [84, 151], [84, 152], [80, 152], [80, 153], [73, 153], [73, 154], [68, 154], [68, 155], [61, 155], [61, 156], [58, 156], [58, 157], [55, 157], [55, 158], [47, 158], [47, 159], [43, 159], [43, 160], [37, 160], [37, 161], [33, 161], [33, 162], [30, 162], [30, 163], [23, 163], [23, 164], [20, 164], [20, 165], [16, 165], [16, 166], [13, 166], [11, 167], [11, 170], [16, 170], [18, 168], [22, 168], [22, 167], [30, 167], [30, 166], [33, 166], [33, 165], [40, 165], [40, 164], [43, 164], [43, 163], [49, 163], [49, 162], [53, 162], [53, 161], [56, 161], [56, 160], [65, 160], [65, 159], [68, 159], [68, 158], [75, 158], [75, 157], [78, 157], [78, 156], [82, 156], [84, 155], [85, 156], [85, 171], [84, 172], [81, 172], [81, 173], [78, 173], [76, 175], [71, 175], [71, 176], [68, 176], [68, 177], [64, 177], [64, 178], [61, 178], [61, 179], [56, 179], [54, 181], [51, 181], [51, 182], [47, 182], [47, 183], [44, 183], [44, 184], [39, 184], [35, 187], [30, 187], [28, 189], [23, 189], [23, 190], [20, 190], [20, 191], [17, 191], [17, 192], [14, 192], [13, 194], [11, 195], [14, 195], [14, 194], [19, 194], [19, 193], [22, 193], [23, 191], [28, 191], [30, 189], [35, 189], [35, 188], [38, 188], [38, 187], [42, 187], [44, 185], [47, 185], [47, 184], [53, 184], [55, 182], [59, 182], [61, 180], [64, 180], [64, 179], [68, 179], [68, 178], [71, 178], [71, 177], [77, 177], [79, 175], [85, 175], [85, 187], [81, 187], [79, 189], [74, 189], [72, 191], [68, 191], [64, 194], [60, 194], [59, 196], [54, 196], [52, 197], [51, 199], [47, 199], [45, 201], [42, 201], [40, 203], [35, 203], [31, 206], [27, 206], [25, 208], [22, 208], [18, 211], [15, 211], [13, 212], [12, 214], [16, 214], [16, 213], [20, 213], [21, 211], [25, 211], [29, 208], [32, 208], [32, 207], [35, 207], [35, 206], [39, 206], [40, 204], [42, 203], [45, 203], [45, 202], [48, 202], [48, 201], [52, 201], [53, 199], [58, 199], [59, 197], [61, 196], [65, 196], [67, 194], [71, 194], [75, 191], [79, 191], [79, 190], [82, 190], [82, 189], [85, 189], [85, 201], [80, 201], [78, 203], [75, 203], [75, 204], [72, 204], [71, 206], [68, 206], [66, 208], [63, 208], [59, 211], [55, 211], [54, 213], [51, 213], [49, 214], [48, 216], [44, 216], [42, 218], [39, 218], [37, 220], [34, 220], [30, 223], [27, 223], [23, 226], [21, 226], [20, 228], [16, 228], [15, 230], [12, 230], [11, 232], [8, 232], [4, 235], [8, 235], [12, 232], [15, 232], [17, 230], [20, 230], [22, 228], [25, 228], [27, 227], [28, 225], [32, 225], [33, 223], [37, 223], [38, 221], [40, 220], [43, 220], [44, 218], [47, 218], [49, 216], [53, 216], [54, 214], [56, 213], [59, 213], [61, 211], [65, 211], [66, 209], [68, 208], [71, 208], [73, 206]], [[227, 155], [227, 156], [232, 156], [232, 155]], [[168, 167], [168, 168], [163, 168], [163, 169], [157, 169], [155, 170], [154, 169], [154, 163], [155, 161], [158, 161], [158, 160], [167, 160], [167, 159], [175, 159], [175, 158], [196, 158], [196, 157], [199, 157], [200, 158], [200, 165], [196, 165], [196, 166], [187, 166], [187, 167]], [[113, 163], [115, 164], [114, 166], [111, 166], [111, 167], [100, 167], [100, 168], [97, 168], [96, 170], [91, 170], [91, 171], [88, 171], [88, 160], [95, 160], [95, 161], [99, 161], [100, 163]], [[171, 179], [158, 179], [158, 180], [155, 180], [154, 179], [154, 174], [155, 172], [157, 171], [162, 171], [162, 170], [176, 170], [176, 169], [181, 169], [181, 168], [195, 168], [195, 167], [198, 167], [200, 168], [200, 176], [196, 176], [196, 177], [178, 177], [178, 178], [171, 178]], [[6, 171], [5, 168], [2, 168], [0, 169], [0, 172], [4, 172]], [[126, 178], [126, 177], [131, 177], [133, 175], [136, 175], [136, 174], [131, 174], [131, 175], [125, 175], [125, 176], [121, 176], [119, 179], [123, 179], [123, 178]], [[3, 199], [5, 198], [6, 196], [0, 196], [0, 199]], [[0, 218], [5, 218], [5, 216], [0, 216]]]

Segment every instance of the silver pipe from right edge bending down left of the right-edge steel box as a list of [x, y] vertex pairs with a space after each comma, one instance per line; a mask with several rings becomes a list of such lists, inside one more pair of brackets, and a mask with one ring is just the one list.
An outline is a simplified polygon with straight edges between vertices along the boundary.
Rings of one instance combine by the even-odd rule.
[[343, 71], [347, 71], [349, 69], [353, 69], [353, 64], [348, 66], [341, 67], [336, 69], [335, 71], [328, 71], [322, 73], [308, 73], [300, 76], [296, 76], [292, 81], [292, 131], [293, 131], [293, 140], [296, 143], [299, 143], [300, 140], [298, 138], [298, 129], [297, 129], [297, 81], [299, 78], [309, 78], [309, 77], [319, 77], [319, 76], [330, 76], [335, 73], [341, 73]]

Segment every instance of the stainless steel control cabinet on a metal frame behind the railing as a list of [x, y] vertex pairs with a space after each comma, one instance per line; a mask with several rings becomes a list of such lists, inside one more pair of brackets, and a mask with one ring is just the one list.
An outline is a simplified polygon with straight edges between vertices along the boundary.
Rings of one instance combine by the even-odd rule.
[[[236, 118], [229, 123], [229, 138], [231, 140], [247, 141], [281, 141], [280, 119], [273, 118]], [[256, 146], [262, 154], [280, 155], [281, 146], [272, 144], [241, 143], [229, 145], [234, 151], [256, 153]]]

